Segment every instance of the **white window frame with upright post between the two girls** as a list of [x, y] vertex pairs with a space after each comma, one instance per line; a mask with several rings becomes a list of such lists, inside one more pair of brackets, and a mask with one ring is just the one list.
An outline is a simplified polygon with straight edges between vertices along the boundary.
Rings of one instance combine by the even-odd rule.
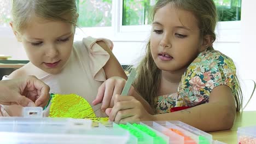
[[[243, 5], [241, 5], [241, 9]], [[141, 26], [123, 26], [123, 1], [112, 1], [112, 26], [110, 27], [83, 27], [77, 28], [75, 39], [86, 36], [104, 37], [118, 42], [144, 42], [147, 41], [150, 34], [150, 25]], [[82, 29], [82, 31], [81, 31]], [[220, 33], [221, 32], [221, 33]], [[240, 42], [241, 41], [241, 21], [223, 21], [218, 22], [217, 28], [218, 42]], [[13, 32], [10, 27], [0, 27], [0, 38], [11, 37]]]

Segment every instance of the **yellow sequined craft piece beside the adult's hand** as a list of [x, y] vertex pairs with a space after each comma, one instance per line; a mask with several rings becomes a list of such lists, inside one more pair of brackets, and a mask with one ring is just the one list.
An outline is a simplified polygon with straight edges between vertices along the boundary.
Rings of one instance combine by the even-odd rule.
[[96, 115], [83, 97], [76, 94], [54, 94], [49, 117], [90, 118]]

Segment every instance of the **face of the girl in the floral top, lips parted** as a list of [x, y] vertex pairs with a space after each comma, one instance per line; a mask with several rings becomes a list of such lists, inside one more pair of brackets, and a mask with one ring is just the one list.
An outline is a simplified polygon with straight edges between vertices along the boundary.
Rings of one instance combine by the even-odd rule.
[[154, 15], [150, 50], [159, 69], [187, 69], [196, 56], [206, 49], [202, 44], [195, 16], [169, 3]]

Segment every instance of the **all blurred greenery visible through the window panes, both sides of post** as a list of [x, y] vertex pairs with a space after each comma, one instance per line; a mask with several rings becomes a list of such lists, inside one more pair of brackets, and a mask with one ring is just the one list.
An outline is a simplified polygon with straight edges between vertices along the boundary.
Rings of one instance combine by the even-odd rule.
[[[76, 0], [79, 27], [109, 27], [112, 25], [112, 0]], [[121, 0], [117, 0], [121, 1]], [[149, 25], [151, 9], [157, 0], [123, 0], [123, 26]], [[241, 0], [213, 0], [219, 21], [241, 20]], [[10, 0], [0, 0], [0, 26], [11, 20]]]

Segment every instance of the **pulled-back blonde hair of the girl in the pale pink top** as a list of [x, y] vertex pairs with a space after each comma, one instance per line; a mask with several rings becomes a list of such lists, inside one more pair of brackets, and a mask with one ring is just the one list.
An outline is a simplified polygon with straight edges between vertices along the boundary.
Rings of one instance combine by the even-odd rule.
[[48, 20], [77, 22], [77, 6], [75, 0], [13, 0], [11, 14], [13, 28], [22, 31], [32, 16]]

